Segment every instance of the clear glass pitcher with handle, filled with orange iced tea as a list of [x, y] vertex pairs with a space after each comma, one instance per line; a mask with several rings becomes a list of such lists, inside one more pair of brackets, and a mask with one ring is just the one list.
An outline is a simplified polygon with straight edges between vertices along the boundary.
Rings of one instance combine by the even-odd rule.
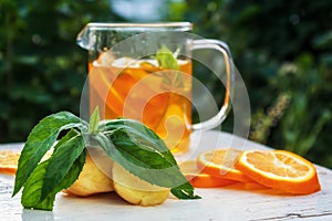
[[[190, 33], [189, 22], [89, 23], [77, 44], [89, 51], [90, 112], [126, 117], [152, 128], [173, 152], [185, 152], [190, 133], [221, 124], [230, 107], [232, 60], [228, 46]], [[194, 50], [222, 54], [225, 98], [218, 114], [191, 123]]]

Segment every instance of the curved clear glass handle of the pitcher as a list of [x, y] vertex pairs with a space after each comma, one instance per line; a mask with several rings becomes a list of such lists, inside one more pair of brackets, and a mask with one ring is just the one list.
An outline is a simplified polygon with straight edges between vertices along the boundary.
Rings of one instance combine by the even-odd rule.
[[198, 49], [212, 49], [222, 53], [225, 60], [225, 69], [226, 69], [226, 94], [224, 98], [224, 104], [219, 109], [218, 114], [214, 117], [194, 124], [191, 126], [193, 130], [208, 130], [219, 126], [226, 118], [229, 109], [230, 109], [230, 97], [232, 95], [232, 82], [234, 82], [234, 66], [231, 54], [228, 45], [219, 40], [205, 39], [205, 40], [195, 40], [193, 44], [193, 51]]

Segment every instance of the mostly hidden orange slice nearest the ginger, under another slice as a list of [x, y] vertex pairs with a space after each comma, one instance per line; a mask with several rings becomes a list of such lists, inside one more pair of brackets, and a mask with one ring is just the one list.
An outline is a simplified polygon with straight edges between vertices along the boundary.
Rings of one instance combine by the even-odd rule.
[[197, 162], [195, 160], [184, 161], [179, 164], [180, 171], [187, 178], [187, 180], [195, 188], [216, 188], [216, 187], [225, 187], [228, 185], [232, 185], [236, 181], [224, 179], [220, 177], [214, 177], [208, 173], [200, 171], [197, 168]]

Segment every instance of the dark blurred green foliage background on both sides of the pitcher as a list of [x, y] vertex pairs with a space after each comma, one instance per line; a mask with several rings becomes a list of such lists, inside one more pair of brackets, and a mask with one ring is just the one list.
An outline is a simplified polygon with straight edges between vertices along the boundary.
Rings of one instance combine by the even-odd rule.
[[[48, 114], [79, 113], [91, 21], [124, 20], [106, 0], [0, 0], [0, 143]], [[332, 1], [165, 0], [162, 20], [226, 41], [251, 103], [250, 139], [332, 168]], [[231, 124], [226, 122], [226, 125]]]

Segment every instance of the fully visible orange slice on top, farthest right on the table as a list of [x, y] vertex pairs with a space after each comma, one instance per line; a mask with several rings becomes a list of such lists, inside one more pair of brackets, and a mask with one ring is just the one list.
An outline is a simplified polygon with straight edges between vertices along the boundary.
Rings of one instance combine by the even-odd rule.
[[243, 151], [236, 168], [266, 187], [295, 194], [321, 189], [314, 166], [287, 150]]

